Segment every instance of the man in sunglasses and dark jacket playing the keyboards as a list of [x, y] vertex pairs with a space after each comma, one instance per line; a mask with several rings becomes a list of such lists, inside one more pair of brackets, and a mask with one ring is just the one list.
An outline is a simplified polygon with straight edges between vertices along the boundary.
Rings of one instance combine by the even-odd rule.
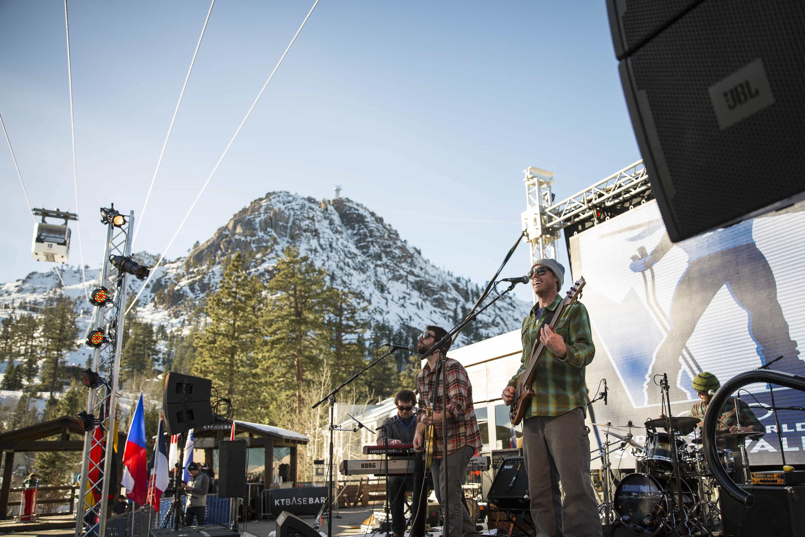
[[[386, 445], [386, 441], [388, 441], [389, 447], [414, 443], [415, 404], [416, 396], [411, 390], [399, 390], [394, 395], [394, 406], [397, 407], [397, 413], [383, 420], [378, 432], [378, 445]], [[405, 494], [413, 492], [413, 488], [413, 476], [389, 476], [389, 490], [386, 496], [390, 499], [393, 537], [401, 537], [405, 533]]]

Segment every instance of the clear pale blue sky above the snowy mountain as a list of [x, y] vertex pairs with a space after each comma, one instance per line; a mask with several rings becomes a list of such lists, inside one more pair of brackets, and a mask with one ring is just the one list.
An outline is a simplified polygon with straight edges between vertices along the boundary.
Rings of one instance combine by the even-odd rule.
[[[98, 207], [139, 216], [208, 6], [68, 4], [90, 266]], [[135, 250], [163, 252], [311, 6], [218, 0]], [[31, 204], [75, 210], [62, 2], [0, 2], [0, 114]], [[639, 158], [603, 0], [321, 0], [167, 258], [266, 192], [331, 198], [341, 184], [436, 265], [482, 283], [519, 232], [523, 169], [555, 171], [559, 200]], [[0, 185], [0, 281], [48, 270], [31, 257], [5, 145]], [[522, 245], [505, 275], [527, 259]]]

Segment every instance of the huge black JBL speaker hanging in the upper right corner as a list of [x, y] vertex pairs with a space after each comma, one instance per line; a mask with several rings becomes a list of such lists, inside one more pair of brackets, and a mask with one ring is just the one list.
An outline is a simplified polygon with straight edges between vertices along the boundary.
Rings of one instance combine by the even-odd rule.
[[608, 0], [608, 12], [672, 241], [805, 199], [805, 2]]

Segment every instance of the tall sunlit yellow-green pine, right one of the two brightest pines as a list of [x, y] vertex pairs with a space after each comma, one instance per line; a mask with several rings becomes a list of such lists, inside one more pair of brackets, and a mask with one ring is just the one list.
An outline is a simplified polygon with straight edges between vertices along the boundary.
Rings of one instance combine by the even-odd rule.
[[328, 287], [326, 275], [327, 271], [316, 267], [307, 255], [288, 246], [268, 283], [270, 299], [263, 319], [268, 336], [264, 365], [278, 380], [275, 396], [284, 398], [295, 392], [298, 413], [305, 382], [320, 370], [330, 353], [324, 319], [334, 291]]

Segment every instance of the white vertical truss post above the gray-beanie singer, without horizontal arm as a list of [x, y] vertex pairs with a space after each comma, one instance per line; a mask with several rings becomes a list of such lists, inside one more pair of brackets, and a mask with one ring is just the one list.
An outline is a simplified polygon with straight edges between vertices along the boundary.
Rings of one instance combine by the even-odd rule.
[[522, 180], [526, 184], [526, 211], [522, 213], [522, 229], [526, 232], [533, 265], [540, 258], [556, 258], [555, 242], [562, 232], [561, 229], [548, 227], [547, 209], [553, 204], [551, 184], [554, 184], [554, 172], [533, 166], [522, 172], [526, 175]]

